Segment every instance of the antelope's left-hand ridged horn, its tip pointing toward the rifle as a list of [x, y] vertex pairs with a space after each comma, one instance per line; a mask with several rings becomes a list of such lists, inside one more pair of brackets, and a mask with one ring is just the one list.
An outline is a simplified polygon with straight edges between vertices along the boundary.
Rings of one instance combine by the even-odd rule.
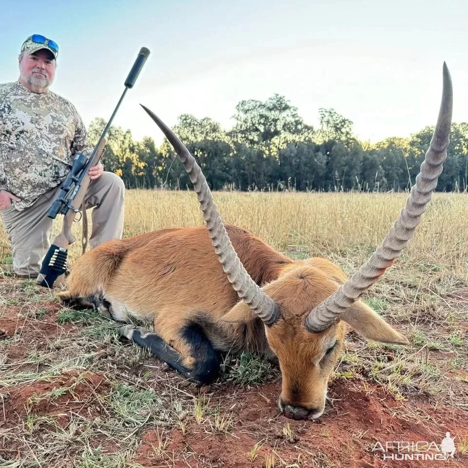
[[194, 156], [190, 154], [176, 134], [159, 117], [143, 104], [140, 104], [140, 106], [156, 122], [156, 125], [174, 147], [190, 180], [194, 184], [194, 190], [200, 202], [200, 209], [206, 221], [211, 243], [215, 248], [218, 260], [223, 266], [224, 273], [228, 275], [229, 282], [233, 285], [239, 298], [248, 304], [266, 325], [273, 325], [279, 318], [278, 305], [260, 289], [247, 273], [244, 265], [242, 265], [221, 220], [210, 187]]

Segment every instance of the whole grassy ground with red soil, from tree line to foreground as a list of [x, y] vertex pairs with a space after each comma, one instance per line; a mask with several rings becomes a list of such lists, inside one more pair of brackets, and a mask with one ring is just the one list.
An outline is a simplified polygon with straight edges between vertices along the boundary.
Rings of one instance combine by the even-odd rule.
[[[348, 274], [407, 198], [214, 196], [225, 222], [292, 258], [325, 256]], [[400, 260], [364, 297], [410, 346], [367, 342], [350, 330], [317, 422], [279, 414], [281, 379], [272, 363], [226, 356], [220, 378], [199, 388], [119, 341], [111, 320], [62, 308], [34, 280], [0, 273], [0, 467], [426, 467], [434, 462], [383, 461], [372, 448], [398, 440], [440, 445], [446, 431], [460, 431], [459, 461], [450, 466], [466, 466], [467, 220], [467, 195], [433, 195]], [[124, 236], [200, 224], [192, 192], [127, 191]], [[77, 223], [78, 239], [80, 229]], [[78, 241], [70, 257], [79, 254]], [[0, 263], [9, 255], [0, 230]]]

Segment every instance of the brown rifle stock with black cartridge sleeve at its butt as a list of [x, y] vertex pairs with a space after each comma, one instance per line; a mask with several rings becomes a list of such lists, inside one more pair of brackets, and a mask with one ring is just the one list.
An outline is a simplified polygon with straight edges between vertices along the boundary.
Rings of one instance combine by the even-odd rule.
[[[98, 165], [101, 156], [104, 152], [104, 147], [106, 144], [106, 139], [102, 138], [99, 142], [99, 146], [97, 151], [94, 152], [94, 156], [89, 164], [89, 167], [93, 167]], [[78, 188], [78, 191], [75, 197], [72, 200], [72, 208], [75, 210], [79, 210], [81, 207], [81, 213], [83, 217], [83, 254], [86, 250], [87, 245], [87, 217], [86, 217], [86, 208], [84, 207], [84, 197], [88, 191], [89, 184], [91, 183], [91, 179], [89, 178], [88, 174], [85, 174], [81, 184]], [[36, 279], [36, 283], [41, 286], [45, 287], [52, 287], [54, 284], [60, 285], [63, 284], [65, 281], [65, 270], [66, 270], [66, 261], [67, 261], [67, 254], [68, 254], [68, 247], [70, 244], [75, 242], [75, 237], [72, 234], [72, 226], [75, 222], [76, 211], [73, 209], [69, 209], [67, 213], [63, 217], [63, 224], [62, 230], [60, 234], [54, 239], [49, 251], [44, 257], [42, 261], [41, 271]], [[54, 268], [54, 260], [59, 258], [58, 265]], [[52, 273], [50, 275], [50, 270], [63, 270], [63, 273], [59, 274], [55, 277], [55, 274]], [[48, 274], [49, 273], [49, 274]], [[57, 273], [56, 273], [57, 274]], [[48, 277], [49, 276], [49, 277]]]

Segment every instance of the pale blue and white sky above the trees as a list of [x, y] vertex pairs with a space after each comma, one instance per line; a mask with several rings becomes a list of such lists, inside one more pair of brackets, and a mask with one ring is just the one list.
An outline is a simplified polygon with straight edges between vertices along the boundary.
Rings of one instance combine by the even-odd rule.
[[[78, 6], [79, 5], [79, 6]], [[453, 121], [468, 121], [468, 1], [1, 0], [0, 83], [19, 77], [22, 42], [59, 44], [51, 90], [85, 125], [108, 120], [141, 47], [151, 54], [113, 125], [134, 139], [162, 134], [181, 114], [234, 126], [236, 104], [277, 93], [318, 126], [318, 109], [351, 119], [371, 143], [434, 125], [444, 60]]]

